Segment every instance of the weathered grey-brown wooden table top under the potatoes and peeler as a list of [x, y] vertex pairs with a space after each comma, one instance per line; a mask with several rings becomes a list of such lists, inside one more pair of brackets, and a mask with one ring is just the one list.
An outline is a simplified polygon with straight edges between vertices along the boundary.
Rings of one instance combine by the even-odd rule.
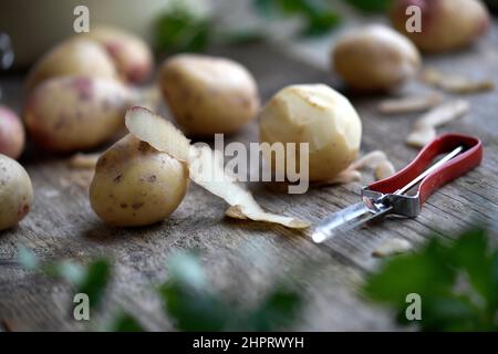
[[[247, 65], [258, 80], [263, 100], [294, 83], [323, 82], [344, 92], [336, 76], [273, 45], [253, 44], [216, 53]], [[498, 83], [498, 28], [473, 49], [429, 56], [426, 63]], [[2, 86], [4, 102], [20, 108], [20, 76], [2, 77]], [[427, 90], [418, 83], [406, 88], [409, 93]], [[345, 93], [363, 121], [362, 150], [382, 149], [397, 168], [405, 166], [416, 154], [404, 139], [417, 115], [382, 116], [375, 108], [381, 96]], [[227, 220], [224, 218], [226, 204], [195, 185], [168, 220], [141, 229], [110, 228], [90, 208], [91, 173], [71, 169], [66, 159], [40, 155], [31, 148], [22, 163], [35, 190], [33, 209], [19, 227], [0, 233], [0, 327], [85, 329], [68, 316], [70, 288], [27, 272], [14, 262], [17, 246], [24, 244], [43, 259], [72, 258], [85, 262], [98, 254], [114, 259], [113, 290], [107, 311], [94, 316], [97, 323], [124, 308], [149, 330], [173, 330], [172, 321], [159, 311], [160, 302], [152, 284], [167, 278], [168, 257], [198, 249], [216, 289], [240, 301], [256, 301], [281, 277], [299, 287], [305, 294], [307, 306], [295, 330], [396, 329], [387, 311], [365, 303], [357, 294], [363, 275], [378, 264], [372, 251], [394, 237], [417, 246], [433, 232], [439, 237], [456, 235], [471, 223], [491, 222], [498, 216], [498, 93], [465, 98], [471, 103], [471, 113], [439, 132], [479, 136], [486, 149], [483, 165], [434, 195], [418, 218], [386, 220], [338, 237], [329, 247], [314, 244], [309, 233], [297, 233], [280, 226]], [[231, 138], [257, 139], [256, 122]], [[257, 200], [268, 210], [317, 222], [356, 202], [361, 184], [323, 187], [293, 196], [253, 187]], [[311, 275], [298, 271], [309, 264], [319, 264]]]

